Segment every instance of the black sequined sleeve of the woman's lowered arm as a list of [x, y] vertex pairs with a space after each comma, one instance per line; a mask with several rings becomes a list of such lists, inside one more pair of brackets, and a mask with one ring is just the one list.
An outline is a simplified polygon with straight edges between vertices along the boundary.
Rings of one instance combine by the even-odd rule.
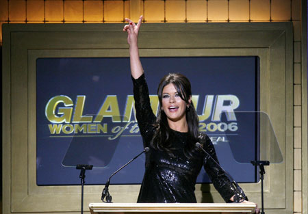
[[[205, 150], [211, 155], [211, 157], [217, 162], [218, 158], [216, 155], [216, 151], [214, 148], [214, 145], [211, 142], [211, 139], [206, 135], [205, 136]], [[226, 176], [223, 170], [220, 169], [220, 167], [213, 161], [208, 155], [205, 157], [205, 163], [204, 168], [207, 172], [207, 175], [211, 179], [211, 182], [213, 183], [214, 187], [217, 189], [217, 191], [220, 193], [220, 196], [224, 199], [225, 202], [230, 202], [230, 198], [237, 193], [235, 190], [235, 187], [233, 187], [231, 181]]]

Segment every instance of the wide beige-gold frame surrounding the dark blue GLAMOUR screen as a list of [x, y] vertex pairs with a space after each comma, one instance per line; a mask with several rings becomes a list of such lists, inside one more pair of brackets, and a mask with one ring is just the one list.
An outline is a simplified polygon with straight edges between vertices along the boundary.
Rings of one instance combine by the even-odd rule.
[[[36, 59], [127, 57], [127, 38], [122, 28], [123, 24], [5, 26], [3, 51], [9, 54], [3, 58], [3, 170], [8, 172], [3, 174], [3, 192], [8, 196], [3, 198], [4, 213], [79, 212], [76, 204], [80, 201], [80, 187], [36, 185]], [[139, 46], [143, 57], [260, 57], [260, 108], [272, 119], [284, 157], [283, 163], [266, 168], [266, 208], [271, 208], [266, 213], [292, 213], [293, 187], [287, 185], [294, 178], [290, 23], [144, 23]], [[241, 186], [252, 201], [260, 204], [259, 183]], [[85, 211], [86, 204], [100, 202], [102, 188], [85, 187]], [[139, 188], [140, 185], [112, 185], [110, 192], [114, 202], [135, 202]], [[220, 202], [213, 188], [196, 185], [198, 202], [205, 198]]]

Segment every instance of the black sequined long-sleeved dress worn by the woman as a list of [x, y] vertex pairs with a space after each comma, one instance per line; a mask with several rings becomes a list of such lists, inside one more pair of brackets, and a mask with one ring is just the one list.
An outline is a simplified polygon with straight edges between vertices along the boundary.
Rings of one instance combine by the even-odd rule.
[[[132, 78], [133, 79], [133, 78]], [[204, 166], [207, 175], [226, 202], [235, 194], [229, 179], [218, 166], [196, 150], [193, 158], [184, 154], [184, 146], [188, 143], [188, 133], [172, 131], [172, 148], [170, 153], [151, 148], [150, 142], [155, 133], [153, 124], [156, 121], [150, 100], [149, 90], [144, 75], [133, 79], [133, 96], [135, 98], [136, 116], [146, 152], [145, 173], [138, 196], [138, 202], [144, 203], [195, 203], [194, 186], [196, 178]], [[201, 135], [200, 142], [211, 157], [216, 152], [207, 135]]]

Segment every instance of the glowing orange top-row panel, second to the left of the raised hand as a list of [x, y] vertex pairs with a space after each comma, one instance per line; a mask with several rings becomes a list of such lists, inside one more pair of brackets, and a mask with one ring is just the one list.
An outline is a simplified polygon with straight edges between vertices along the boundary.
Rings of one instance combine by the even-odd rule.
[[84, 21], [103, 21], [103, 1], [84, 1]]

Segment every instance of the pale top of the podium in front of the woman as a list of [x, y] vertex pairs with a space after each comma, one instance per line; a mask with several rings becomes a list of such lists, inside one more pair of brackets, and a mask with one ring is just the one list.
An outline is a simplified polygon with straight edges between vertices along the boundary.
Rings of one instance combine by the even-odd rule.
[[91, 214], [133, 214], [133, 213], [254, 213], [255, 204], [225, 204], [225, 203], [90, 203]]

